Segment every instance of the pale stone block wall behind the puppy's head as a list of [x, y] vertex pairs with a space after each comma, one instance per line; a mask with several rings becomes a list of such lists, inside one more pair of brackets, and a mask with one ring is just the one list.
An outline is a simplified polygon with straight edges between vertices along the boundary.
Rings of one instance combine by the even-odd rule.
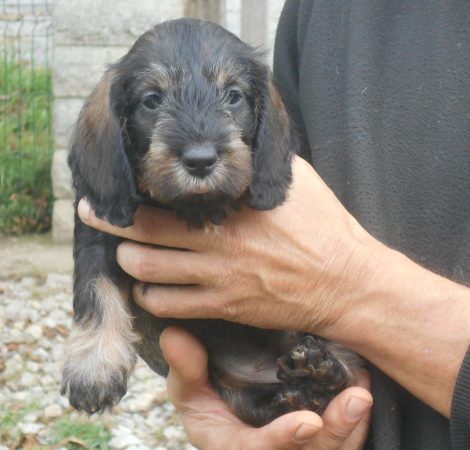
[[124, 55], [143, 30], [182, 16], [218, 22], [250, 44], [264, 46], [270, 57], [282, 4], [283, 0], [53, 1], [56, 200], [52, 226], [56, 243], [72, 239], [73, 192], [66, 163], [71, 130], [106, 65]]

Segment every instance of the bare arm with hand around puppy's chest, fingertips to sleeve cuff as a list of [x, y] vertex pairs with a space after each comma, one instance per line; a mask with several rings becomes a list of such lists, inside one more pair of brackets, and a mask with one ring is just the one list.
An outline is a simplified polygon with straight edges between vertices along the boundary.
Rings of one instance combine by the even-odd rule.
[[79, 213], [104, 231], [174, 247], [126, 242], [118, 249], [119, 264], [135, 278], [178, 285], [143, 296], [135, 289], [153, 314], [317, 333], [449, 416], [470, 343], [470, 289], [373, 239], [300, 158], [284, 205], [242, 208], [212, 234], [151, 208], [127, 229], [97, 220], [84, 203]]

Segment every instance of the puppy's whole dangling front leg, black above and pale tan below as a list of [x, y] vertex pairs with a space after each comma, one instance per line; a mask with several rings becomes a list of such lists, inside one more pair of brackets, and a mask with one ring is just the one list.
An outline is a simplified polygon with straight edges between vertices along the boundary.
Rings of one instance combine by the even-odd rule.
[[127, 278], [116, 276], [116, 245], [115, 238], [76, 223], [74, 325], [61, 392], [89, 414], [119, 402], [136, 360], [138, 338], [127, 305]]

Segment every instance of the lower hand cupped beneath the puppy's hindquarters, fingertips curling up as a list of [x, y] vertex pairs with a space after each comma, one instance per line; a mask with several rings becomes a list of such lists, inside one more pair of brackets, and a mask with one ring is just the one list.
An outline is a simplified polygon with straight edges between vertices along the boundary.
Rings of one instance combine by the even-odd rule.
[[[204, 450], [356, 450], [364, 446], [372, 397], [369, 378], [341, 392], [320, 418], [311, 411], [253, 428], [235, 417], [209, 384], [207, 354], [187, 331], [167, 328], [160, 339], [170, 365], [168, 394], [182, 414], [190, 442]], [[188, 358], [187, 355], [191, 355]]]

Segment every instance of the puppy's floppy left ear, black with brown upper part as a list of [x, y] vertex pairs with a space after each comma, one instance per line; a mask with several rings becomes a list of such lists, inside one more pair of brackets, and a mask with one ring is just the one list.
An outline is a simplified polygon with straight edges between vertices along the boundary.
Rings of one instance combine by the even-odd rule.
[[98, 217], [124, 227], [133, 221], [136, 187], [114, 90], [108, 72], [80, 113], [68, 162], [77, 197], [86, 196]]

